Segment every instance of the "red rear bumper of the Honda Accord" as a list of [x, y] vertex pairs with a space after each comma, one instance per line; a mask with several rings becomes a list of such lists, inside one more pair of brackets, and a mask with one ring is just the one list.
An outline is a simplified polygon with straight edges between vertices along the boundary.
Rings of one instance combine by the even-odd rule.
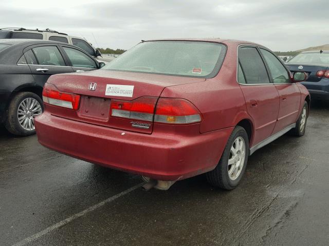
[[[68, 120], [45, 112], [35, 119], [39, 142], [88, 162], [158, 180], [208, 172], [233, 128], [191, 135], [141, 134]], [[122, 135], [124, 133], [124, 135]]]

